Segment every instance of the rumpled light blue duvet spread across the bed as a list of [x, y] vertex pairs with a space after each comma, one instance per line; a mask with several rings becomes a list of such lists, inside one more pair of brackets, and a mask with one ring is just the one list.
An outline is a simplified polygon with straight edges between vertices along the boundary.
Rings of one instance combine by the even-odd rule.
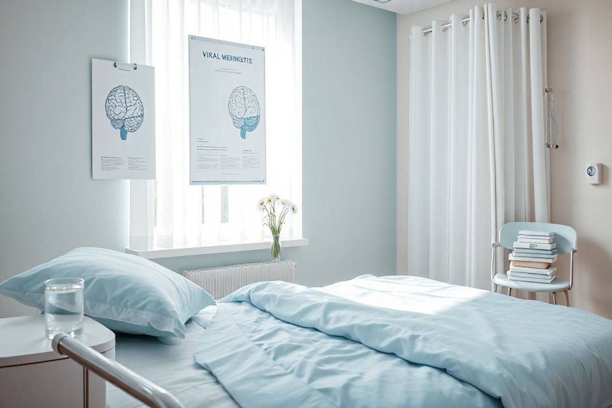
[[195, 359], [245, 408], [612, 405], [612, 321], [414, 276], [244, 287]]

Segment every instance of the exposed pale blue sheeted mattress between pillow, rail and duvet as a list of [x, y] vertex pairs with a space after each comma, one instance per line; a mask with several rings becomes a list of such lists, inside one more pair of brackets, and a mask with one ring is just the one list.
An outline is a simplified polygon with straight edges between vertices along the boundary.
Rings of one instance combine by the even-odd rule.
[[[176, 345], [164, 344], [152, 336], [116, 333], [115, 360], [170, 391], [185, 408], [238, 407], [217, 379], [193, 360], [193, 352], [204, 332], [202, 325], [206, 325], [211, 311], [204, 310], [190, 319], [185, 325], [185, 339]], [[144, 406], [108, 383], [106, 405], [110, 408]]]

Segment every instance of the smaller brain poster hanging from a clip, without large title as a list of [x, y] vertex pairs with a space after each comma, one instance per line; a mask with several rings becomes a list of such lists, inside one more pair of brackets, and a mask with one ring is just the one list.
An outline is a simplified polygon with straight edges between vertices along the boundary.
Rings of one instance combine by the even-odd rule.
[[91, 60], [94, 179], [155, 179], [153, 67]]

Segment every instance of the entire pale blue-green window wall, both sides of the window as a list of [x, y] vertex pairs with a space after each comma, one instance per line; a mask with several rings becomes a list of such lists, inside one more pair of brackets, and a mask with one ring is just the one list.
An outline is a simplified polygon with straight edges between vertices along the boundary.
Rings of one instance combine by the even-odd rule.
[[[395, 273], [395, 15], [303, 0], [304, 236], [297, 281]], [[83, 18], [86, 16], [86, 18]], [[0, 281], [128, 243], [125, 180], [91, 179], [91, 58], [127, 59], [127, 0], [0, 0]], [[68, 46], [69, 45], [69, 46]], [[162, 259], [173, 270], [269, 251]], [[0, 297], [0, 317], [29, 313]]]

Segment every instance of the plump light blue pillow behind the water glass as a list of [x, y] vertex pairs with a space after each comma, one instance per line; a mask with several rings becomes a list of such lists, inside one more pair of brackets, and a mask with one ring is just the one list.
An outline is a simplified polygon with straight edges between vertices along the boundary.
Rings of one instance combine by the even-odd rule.
[[84, 313], [116, 332], [185, 337], [185, 322], [215, 301], [184, 276], [139, 256], [76, 248], [0, 283], [0, 294], [45, 308], [45, 280], [83, 278]]

